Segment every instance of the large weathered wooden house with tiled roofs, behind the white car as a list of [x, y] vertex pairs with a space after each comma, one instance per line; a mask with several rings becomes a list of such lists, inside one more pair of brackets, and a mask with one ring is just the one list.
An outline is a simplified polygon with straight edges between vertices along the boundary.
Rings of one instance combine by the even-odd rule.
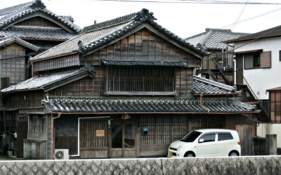
[[195, 76], [209, 53], [155, 20], [143, 9], [84, 27], [30, 59], [34, 77], [1, 90], [7, 109], [29, 116], [25, 158], [53, 159], [58, 148], [79, 158], [159, 156], [191, 130], [254, 134], [256, 106]]

